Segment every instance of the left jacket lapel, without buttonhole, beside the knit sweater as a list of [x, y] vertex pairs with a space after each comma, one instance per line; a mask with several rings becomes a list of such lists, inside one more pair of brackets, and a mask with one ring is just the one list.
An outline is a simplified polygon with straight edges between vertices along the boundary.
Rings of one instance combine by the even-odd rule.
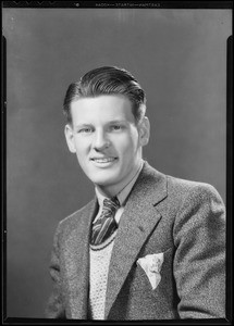
[[[89, 278], [89, 229], [96, 212], [97, 201], [86, 205], [75, 221], [73, 231], [66, 241], [66, 273], [72, 318], [87, 318]], [[81, 213], [79, 213], [81, 214]]]

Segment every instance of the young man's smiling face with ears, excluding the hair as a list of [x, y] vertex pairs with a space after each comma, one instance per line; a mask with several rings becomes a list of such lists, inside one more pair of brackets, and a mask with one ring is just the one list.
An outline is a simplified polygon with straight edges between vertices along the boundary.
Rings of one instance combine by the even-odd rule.
[[76, 153], [87, 177], [107, 195], [116, 195], [140, 164], [149, 124], [138, 126], [126, 97], [83, 98], [71, 104], [72, 126], [65, 126], [71, 152]]

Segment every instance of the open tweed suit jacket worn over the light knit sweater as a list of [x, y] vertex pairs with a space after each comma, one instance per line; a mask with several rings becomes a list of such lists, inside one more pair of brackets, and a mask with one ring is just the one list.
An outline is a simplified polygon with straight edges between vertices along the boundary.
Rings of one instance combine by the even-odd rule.
[[[51, 256], [47, 317], [87, 319], [89, 236], [97, 199], [60, 222]], [[208, 184], [167, 176], [147, 162], [121, 217], [106, 319], [225, 317], [225, 210]], [[163, 254], [153, 289], [138, 259]]]

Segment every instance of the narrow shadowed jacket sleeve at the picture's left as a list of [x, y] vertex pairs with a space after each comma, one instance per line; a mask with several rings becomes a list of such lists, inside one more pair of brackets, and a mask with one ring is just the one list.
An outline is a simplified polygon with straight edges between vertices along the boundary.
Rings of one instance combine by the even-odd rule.
[[52, 293], [47, 303], [46, 317], [65, 319], [66, 316], [64, 308], [64, 293], [62, 291], [62, 277], [60, 271], [59, 235], [60, 225], [58, 226], [53, 238], [53, 248], [50, 263], [50, 276], [52, 278], [53, 287]]

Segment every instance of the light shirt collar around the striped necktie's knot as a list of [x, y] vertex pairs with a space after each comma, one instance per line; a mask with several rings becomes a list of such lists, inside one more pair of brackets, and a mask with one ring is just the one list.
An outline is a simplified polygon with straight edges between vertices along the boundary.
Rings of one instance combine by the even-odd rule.
[[[136, 183], [136, 179], [138, 178], [138, 175], [143, 168], [143, 165], [144, 165], [144, 161], [141, 160], [140, 162], [140, 165], [137, 170], [137, 172], [135, 173], [134, 177], [130, 180], [130, 183], [116, 195], [116, 198], [120, 202], [120, 205], [123, 206], [125, 204], [125, 201], [134, 186], [134, 184]], [[103, 200], [107, 198], [104, 197], [100, 190], [96, 187], [95, 188], [95, 191], [96, 191], [96, 195], [97, 195], [97, 199], [98, 199], [98, 203], [99, 203], [99, 206], [102, 206], [103, 205]]]

